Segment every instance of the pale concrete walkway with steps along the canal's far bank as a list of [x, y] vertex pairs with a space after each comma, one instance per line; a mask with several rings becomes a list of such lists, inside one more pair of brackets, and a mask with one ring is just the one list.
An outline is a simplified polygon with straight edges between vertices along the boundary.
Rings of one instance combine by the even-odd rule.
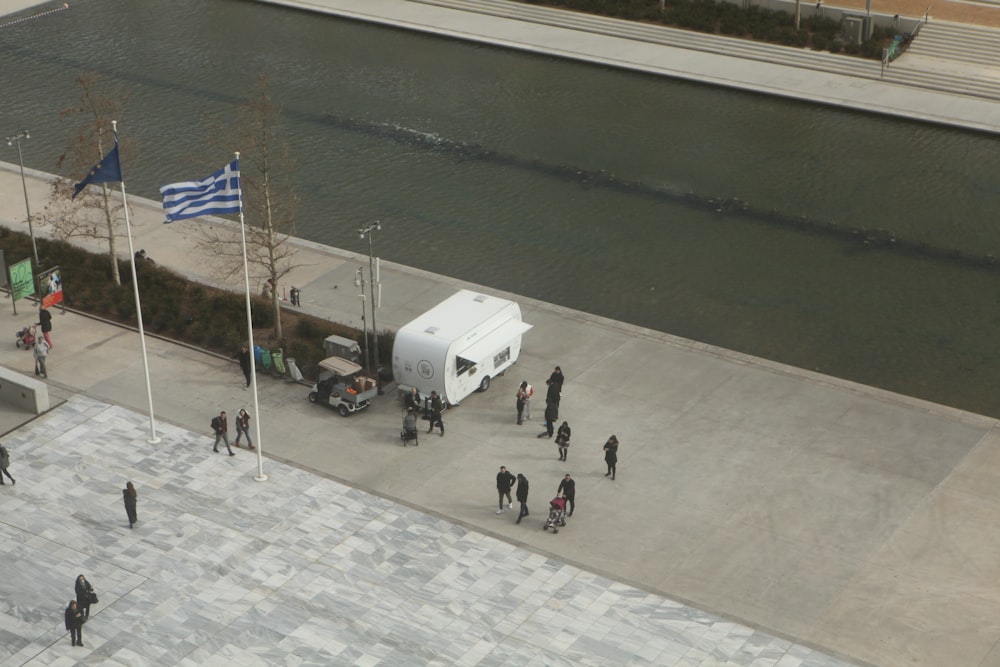
[[[969, 90], [987, 89], [985, 85], [977, 86], [977, 81], [1000, 77], [1000, 63], [996, 62], [947, 62], [942, 72], [944, 61], [940, 59], [920, 61], [916, 71], [898, 65], [901, 59], [883, 79], [875, 61], [505, 0], [257, 1], [845, 109], [1000, 131], [1000, 104], [989, 97], [967, 94]], [[455, 6], [490, 9], [482, 13], [461, 11]], [[712, 46], [692, 50], [692, 40]], [[897, 71], [898, 81], [893, 74]], [[925, 87], [930, 81], [941, 85], [938, 89]], [[950, 89], [945, 85], [949, 81], [954, 83]]]

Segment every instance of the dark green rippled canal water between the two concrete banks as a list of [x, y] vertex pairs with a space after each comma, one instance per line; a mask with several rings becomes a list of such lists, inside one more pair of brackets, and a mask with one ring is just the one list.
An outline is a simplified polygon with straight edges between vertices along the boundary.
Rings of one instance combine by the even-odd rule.
[[0, 59], [31, 167], [92, 71], [156, 198], [266, 69], [299, 236], [379, 219], [392, 261], [1000, 415], [994, 137], [242, 0], [89, 0]]

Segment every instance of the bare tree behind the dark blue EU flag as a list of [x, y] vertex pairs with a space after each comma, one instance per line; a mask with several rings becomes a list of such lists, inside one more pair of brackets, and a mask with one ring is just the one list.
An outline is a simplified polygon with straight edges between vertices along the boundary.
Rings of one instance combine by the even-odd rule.
[[60, 170], [73, 174], [75, 180], [60, 177], [52, 182], [49, 203], [40, 217], [52, 227], [57, 238], [107, 240], [111, 277], [115, 285], [121, 285], [115, 224], [121, 202], [111, 195], [107, 183], [92, 184], [75, 199], [72, 197], [74, 183], [114, 146], [111, 121], [121, 115], [122, 97], [93, 73], [81, 74], [76, 82], [81, 90], [80, 99], [76, 105], [63, 109], [60, 116], [74, 122], [79, 119], [78, 127], [56, 163]]

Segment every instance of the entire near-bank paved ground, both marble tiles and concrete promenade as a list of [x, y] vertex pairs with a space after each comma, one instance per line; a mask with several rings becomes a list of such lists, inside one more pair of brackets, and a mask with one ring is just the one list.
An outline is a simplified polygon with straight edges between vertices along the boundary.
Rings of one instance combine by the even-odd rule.
[[[46, 179], [29, 173], [32, 210]], [[137, 247], [215, 282], [200, 223], [130, 201]], [[0, 164], [0, 225], [23, 215]], [[295, 244], [303, 309], [355, 322], [367, 257]], [[388, 327], [468, 286], [389, 263], [383, 281]], [[391, 395], [342, 419], [262, 377], [262, 483], [206, 433], [249, 407], [233, 362], [150, 342], [151, 446], [136, 335], [57, 315], [64, 402], [30, 422], [0, 410], [19, 482], [0, 489], [0, 664], [1000, 665], [995, 420], [515, 298], [534, 325], [515, 371], [418, 448], [399, 446]], [[0, 364], [30, 373], [19, 312], [0, 306]], [[566, 465], [514, 424], [517, 382], [554, 364]], [[520, 526], [494, 514], [501, 464], [532, 482]], [[541, 508], [565, 472], [579, 506], [552, 535]], [[102, 593], [86, 649], [61, 630], [79, 572]]]

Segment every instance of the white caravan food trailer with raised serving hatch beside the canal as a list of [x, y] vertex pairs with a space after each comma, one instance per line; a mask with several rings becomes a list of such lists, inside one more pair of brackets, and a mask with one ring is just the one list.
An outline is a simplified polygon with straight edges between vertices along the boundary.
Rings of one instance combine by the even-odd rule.
[[521, 321], [513, 301], [462, 290], [396, 333], [392, 373], [400, 391], [416, 387], [426, 398], [436, 391], [457, 404], [517, 361]]

